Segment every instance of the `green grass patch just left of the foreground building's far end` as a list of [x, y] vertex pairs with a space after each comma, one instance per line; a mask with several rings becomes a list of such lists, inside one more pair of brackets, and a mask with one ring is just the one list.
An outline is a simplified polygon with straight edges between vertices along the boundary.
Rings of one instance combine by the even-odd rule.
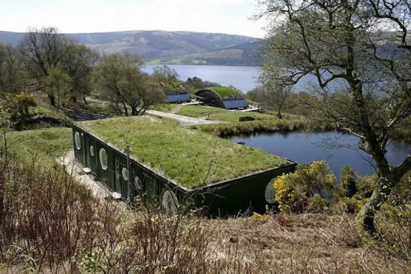
[[7, 145], [10, 152], [25, 160], [31, 161], [36, 157], [40, 161], [51, 163], [72, 147], [71, 129], [47, 128], [13, 132], [7, 136]]

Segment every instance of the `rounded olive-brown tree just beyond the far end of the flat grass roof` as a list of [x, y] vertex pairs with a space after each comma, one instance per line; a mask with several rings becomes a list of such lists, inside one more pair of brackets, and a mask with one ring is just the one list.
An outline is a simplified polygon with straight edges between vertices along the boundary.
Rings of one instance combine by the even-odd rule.
[[139, 55], [110, 54], [101, 58], [94, 71], [94, 83], [102, 96], [122, 104], [127, 116], [128, 107], [132, 115], [143, 114], [149, 106], [162, 103], [157, 92], [165, 96], [160, 86], [152, 82], [157, 80], [141, 72], [142, 65]]

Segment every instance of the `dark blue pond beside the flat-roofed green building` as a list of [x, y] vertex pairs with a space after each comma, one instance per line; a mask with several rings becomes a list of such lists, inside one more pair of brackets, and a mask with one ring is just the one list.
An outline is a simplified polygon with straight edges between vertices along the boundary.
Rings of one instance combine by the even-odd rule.
[[[231, 140], [245, 142], [247, 146], [260, 148], [300, 164], [326, 160], [337, 177], [344, 165], [350, 166], [361, 175], [375, 172], [370, 156], [358, 149], [358, 138], [353, 135], [337, 132], [264, 133], [236, 136]], [[398, 165], [411, 153], [411, 146], [390, 143], [387, 150], [387, 158]]]

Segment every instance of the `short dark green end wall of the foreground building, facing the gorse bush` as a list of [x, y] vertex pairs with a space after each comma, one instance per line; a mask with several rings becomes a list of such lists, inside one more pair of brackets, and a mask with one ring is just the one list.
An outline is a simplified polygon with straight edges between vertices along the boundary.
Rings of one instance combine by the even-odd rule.
[[265, 198], [267, 184], [283, 173], [293, 172], [295, 166], [291, 164], [204, 188], [198, 191], [197, 205], [203, 206], [212, 216], [235, 215], [250, 208], [253, 212], [264, 213], [269, 205]]

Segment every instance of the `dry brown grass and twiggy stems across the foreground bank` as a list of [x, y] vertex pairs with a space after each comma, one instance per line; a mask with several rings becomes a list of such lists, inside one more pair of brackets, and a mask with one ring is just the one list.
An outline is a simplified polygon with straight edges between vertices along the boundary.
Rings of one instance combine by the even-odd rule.
[[0, 164], [0, 273], [411, 271], [404, 250], [390, 248], [409, 244], [402, 224], [381, 221], [388, 240], [375, 243], [345, 214], [169, 218], [141, 201], [132, 210], [97, 201], [59, 166]]

